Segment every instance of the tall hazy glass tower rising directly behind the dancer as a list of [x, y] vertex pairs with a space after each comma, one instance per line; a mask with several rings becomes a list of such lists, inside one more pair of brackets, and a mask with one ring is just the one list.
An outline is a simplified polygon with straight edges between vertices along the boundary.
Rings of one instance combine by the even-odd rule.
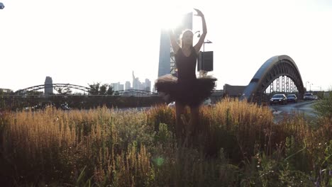
[[[174, 30], [176, 37], [179, 39], [179, 35], [186, 29], [192, 30], [192, 12], [185, 14], [181, 25]], [[158, 77], [165, 74], [175, 74], [175, 69], [175, 57], [170, 45], [170, 36], [166, 30], [162, 29], [160, 33]]]

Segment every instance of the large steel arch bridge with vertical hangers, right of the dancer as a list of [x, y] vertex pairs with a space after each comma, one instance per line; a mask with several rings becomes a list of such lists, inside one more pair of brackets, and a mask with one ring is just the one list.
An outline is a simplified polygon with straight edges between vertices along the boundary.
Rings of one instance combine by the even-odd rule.
[[262, 64], [248, 86], [245, 87], [240, 100], [247, 99], [250, 102], [261, 103], [267, 99], [266, 91], [269, 86], [270, 93], [298, 92], [299, 98], [303, 98], [304, 85], [301, 74], [291, 57], [279, 55], [271, 57]]

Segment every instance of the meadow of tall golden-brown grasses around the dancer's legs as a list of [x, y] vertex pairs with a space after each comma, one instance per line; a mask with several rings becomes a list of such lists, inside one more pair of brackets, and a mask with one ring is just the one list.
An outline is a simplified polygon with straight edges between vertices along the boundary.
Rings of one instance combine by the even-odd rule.
[[165, 105], [4, 113], [0, 185], [332, 186], [331, 118], [275, 123], [269, 108], [228, 98], [199, 115], [206, 133], [179, 143]]

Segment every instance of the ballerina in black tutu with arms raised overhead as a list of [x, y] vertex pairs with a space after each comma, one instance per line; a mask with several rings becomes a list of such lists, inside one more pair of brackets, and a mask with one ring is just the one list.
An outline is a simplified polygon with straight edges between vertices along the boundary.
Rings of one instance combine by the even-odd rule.
[[175, 61], [177, 66], [177, 77], [167, 74], [158, 77], [155, 81], [155, 88], [159, 93], [165, 94], [165, 99], [175, 101], [176, 110], [176, 135], [178, 139], [184, 136], [184, 123], [181, 115], [185, 112], [185, 107], [190, 107], [191, 119], [189, 121], [189, 133], [197, 135], [198, 132], [204, 130], [199, 124], [199, 106], [211, 95], [215, 86], [216, 79], [212, 77], [199, 77], [197, 79], [195, 71], [197, 65], [197, 57], [201, 45], [207, 33], [206, 23], [203, 13], [195, 9], [200, 16], [203, 24], [203, 33], [196, 45], [193, 46], [192, 30], [184, 30], [180, 36], [180, 45], [177, 44], [175, 33], [170, 30], [170, 41], [175, 53]]

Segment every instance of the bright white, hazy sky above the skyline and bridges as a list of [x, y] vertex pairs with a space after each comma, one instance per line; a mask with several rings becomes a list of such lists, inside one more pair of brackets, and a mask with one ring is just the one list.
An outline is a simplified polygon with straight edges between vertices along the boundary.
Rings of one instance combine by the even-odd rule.
[[[304, 85], [331, 89], [332, 1], [0, 0], [0, 88], [157, 79], [160, 28], [199, 8], [214, 51], [217, 89], [247, 85], [275, 55], [289, 55]], [[194, 31], [201, 29], [194, 17]]]

